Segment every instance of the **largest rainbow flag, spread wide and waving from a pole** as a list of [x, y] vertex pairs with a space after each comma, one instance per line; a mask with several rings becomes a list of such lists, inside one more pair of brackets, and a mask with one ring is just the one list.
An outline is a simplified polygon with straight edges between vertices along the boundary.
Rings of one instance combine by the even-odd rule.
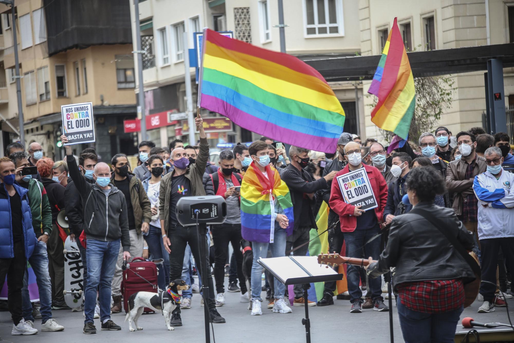
[[344, 111], [313, 67], [209, 29], [202, 51], [198, 107], [284, 143], [335, 151]]

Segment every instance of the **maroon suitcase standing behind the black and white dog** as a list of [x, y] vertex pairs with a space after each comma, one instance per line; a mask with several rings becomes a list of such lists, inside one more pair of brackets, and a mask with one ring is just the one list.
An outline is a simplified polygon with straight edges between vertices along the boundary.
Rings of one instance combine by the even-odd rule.
[[[137, 257], [129, 265], [130, 267], [123, 270], [123, 281], [121, 284], [125, 313], [128, 312], [128, 298], [134, 293], [139, 291], [157, 293], [157, 266], [155, 263]], [[153, 313], [154, 310], [145, 307], [144, 312]]]

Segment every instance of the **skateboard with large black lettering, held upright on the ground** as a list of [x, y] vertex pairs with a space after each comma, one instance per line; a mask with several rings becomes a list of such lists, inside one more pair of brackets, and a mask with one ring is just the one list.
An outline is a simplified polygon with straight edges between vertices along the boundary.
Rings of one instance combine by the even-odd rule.
[[77, 241], [71, 242], [69, 236], [64, 242], [64, 301], [71, 308], [82, 305], [83, 271]]

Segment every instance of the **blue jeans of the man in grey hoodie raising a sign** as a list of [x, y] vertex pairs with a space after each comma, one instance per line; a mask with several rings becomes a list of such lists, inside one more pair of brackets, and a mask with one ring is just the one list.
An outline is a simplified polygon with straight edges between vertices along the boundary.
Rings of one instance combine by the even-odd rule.
[[100, 320], [111, 319], [111, 284], [113, 282], [121, 240], [112, 242], [86, 239], [87, 287], [84, 323], [93, 323], [97, 288], [100, 285]]

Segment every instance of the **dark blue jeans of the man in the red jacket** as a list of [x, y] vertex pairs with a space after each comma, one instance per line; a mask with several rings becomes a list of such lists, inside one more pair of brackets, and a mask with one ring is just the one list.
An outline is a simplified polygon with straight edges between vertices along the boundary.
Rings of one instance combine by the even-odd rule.
[[[369, 256], [373, 258], [373, 260], [378, 260], [378, 256], [380, 255], [380, 238], [375, 238], [370, 243], [364, 245], [369, 241], [371, 237], [376, 235], [380, 231], [380, 228], [377, 227], [369, 230], [359, 230], [356, 229], [354, 232], [345, 232], [344, 233], [344, 242], [346, 244], [346, 256], [351, 258], [362, 258], [362, 246], [364, 246], [364, 256], [368, 259]], [[355, 302], [357, 300], [361, 300], [362, 290], [359, 287], [359, 266], [348, 265], [346, 267], [346, 281], [348, 283], [348, 293], [350, 293], [350, 302]], [[371, 296], [371, 300], [382, 300], [382, 279], [375, 278], [369, 279], [368, 284], [366, 286], [368, 288], [368, 293], [366, 297]]]

